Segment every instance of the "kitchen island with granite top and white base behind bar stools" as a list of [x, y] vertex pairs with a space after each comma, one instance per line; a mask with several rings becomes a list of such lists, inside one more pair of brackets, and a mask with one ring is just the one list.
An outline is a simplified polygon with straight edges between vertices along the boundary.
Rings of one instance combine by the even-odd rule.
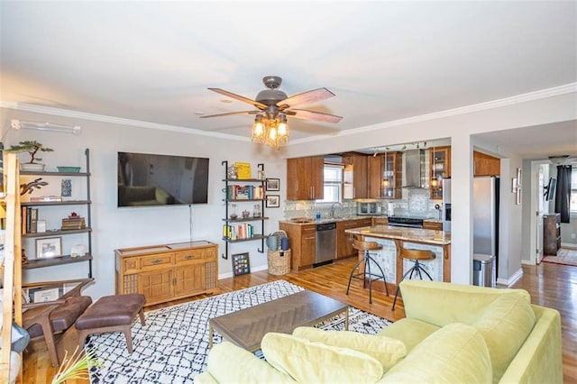
[[[413, 261], [403, 261], [400, 258], [401, 246], [435, 252], [435, 260], [421, 263], [434, 280], [451, 281], [450, 232], [375, 225], [349, 229], [346, 233], [356, 235], [362, 241], [378, 242], [382, 245], [381, 250], [371, 251], [371, 254], [385, 272], [387, 283], [395, 288], [405, 271], [413, 266]], [[359, 259], [362, 259], [362, 256], [359, 253]]]

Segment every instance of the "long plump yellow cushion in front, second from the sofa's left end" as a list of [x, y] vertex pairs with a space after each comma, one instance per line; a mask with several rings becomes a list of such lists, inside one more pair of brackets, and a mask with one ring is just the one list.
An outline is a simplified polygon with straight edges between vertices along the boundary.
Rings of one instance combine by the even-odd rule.
[[380, 361], [368, 354], [290, 334], [265, 334], [261, 350], [270, 365], [298, 382], [374, 383], [383, 374]]

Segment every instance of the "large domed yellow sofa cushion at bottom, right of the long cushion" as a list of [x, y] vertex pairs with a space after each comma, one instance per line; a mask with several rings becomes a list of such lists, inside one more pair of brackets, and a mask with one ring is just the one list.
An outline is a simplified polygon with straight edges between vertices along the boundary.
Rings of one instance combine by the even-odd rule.
[[419, 343], [392, 367], [381, 382], [488, 383], [492, 379], [489, 351], [471, 325], [446, 325]]

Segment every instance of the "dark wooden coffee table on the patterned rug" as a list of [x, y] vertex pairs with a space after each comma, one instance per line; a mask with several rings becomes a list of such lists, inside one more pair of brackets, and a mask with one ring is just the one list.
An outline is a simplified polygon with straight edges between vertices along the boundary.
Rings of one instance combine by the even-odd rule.
[[341, 313], [344, 313], [344, 329], [348, 330], [349, 306], [331, 297], [304, 290], [210, 319], [209, 347], [213, 346], [213, 333], [216, 331], [247, 351], [258, 351], [264, 334], [290, 334], [298, 326], [316, 325]]

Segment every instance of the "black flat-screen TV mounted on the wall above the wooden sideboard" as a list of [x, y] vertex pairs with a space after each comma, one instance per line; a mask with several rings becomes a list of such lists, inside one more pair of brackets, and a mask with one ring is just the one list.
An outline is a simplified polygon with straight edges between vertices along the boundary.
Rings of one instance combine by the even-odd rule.
[[208, 203], [208, 159], [118, 152], [118, 206]]

